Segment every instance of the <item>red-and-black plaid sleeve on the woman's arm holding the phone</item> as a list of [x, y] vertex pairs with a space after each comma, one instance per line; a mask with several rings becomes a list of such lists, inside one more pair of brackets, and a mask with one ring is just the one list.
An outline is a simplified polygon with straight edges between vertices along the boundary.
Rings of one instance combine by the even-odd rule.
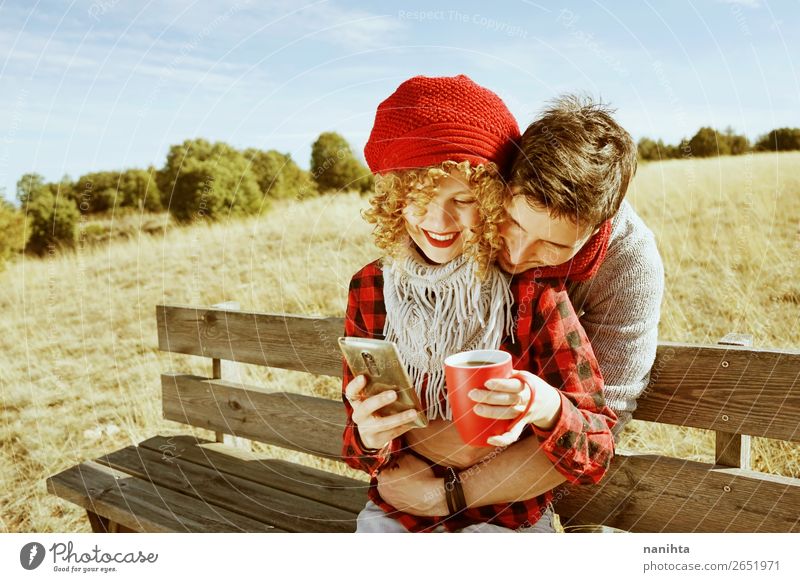
[[[383, 333], [385, 316], [383, 276], [380, 268], [371, 263], [356, 273], [350, 281], [344, 334], [350, 337], [374, 338]], [[345, 388], [353, 379], [353, 374], [344, 360], [342, 367], [342, 401], [347, 413], [347, 422], [342, 435], [342, 457], [354, 469], [375, 477], [381, 469], [392, 462], [393, 455], [399, 453], [402, 448], [402, 438], [392, 440], [382, 449], [369, 449], [364, 446], [358, 435], [358, 427], [353, 422], [353, 407], [345, 396]]]

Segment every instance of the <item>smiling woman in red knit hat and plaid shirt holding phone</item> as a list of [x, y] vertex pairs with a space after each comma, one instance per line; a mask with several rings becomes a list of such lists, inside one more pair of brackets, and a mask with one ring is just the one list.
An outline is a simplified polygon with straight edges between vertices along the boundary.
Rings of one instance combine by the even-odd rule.
[[[501, 348], [514, 340], [512, 332], [521, 354], [515, 367], [537, 375], [530, 376], [536, 394], [523, 424], [542, 439], [556, 468], [573, 482], [593, 483], [613, 455], [616, 417], [605, 406], [602, 377], [566, 293], [539, 285], [524, 298], [512, 297], [493, 264], [505, 218], [500, 169], [518, 137], [499, 97], [464, 76], [414, 77], [378, 108], [365, 148], [376, 194], [365, 217], [385, 256], [353, 276], [345, 335], [397, 344], [430, 424], [414, 428], [411, 412], [382, 416], [396, 394], [364, 398], [365, 379], [353, 378], [345, 365], [343, 456], [372, 477], [358, 531], [553, 531], [552, 494], [470, 509], [444, 501], [444, 477], [453, 474], [448, 467], [491, 453], [454, 438], [444, 359]], [[516, 322], [510, 315], [515, 300], [530, 307]], [[483, 402], [521, 412], [527, 398], [494, 393]], [[452, 454], [430, 458], [431, 439], [452, 440]], [[378, 492], [378, 473], [403, 454], [432, 465], [429, 515], [399, 511]]]

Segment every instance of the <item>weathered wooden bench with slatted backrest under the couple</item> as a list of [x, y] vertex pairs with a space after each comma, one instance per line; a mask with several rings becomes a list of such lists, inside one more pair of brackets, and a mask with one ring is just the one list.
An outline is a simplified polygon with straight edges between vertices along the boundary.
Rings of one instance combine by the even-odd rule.
[[[244, 385], [231, 366], [341, 377], [342, 319], [231, 305], [159, 305], [156, 316], [161, 350], [211, 358], [209, 377], [161, 376], [164, 418], [216, 442], [155, 436], [50, 477], [48, 490], [85, 508], [99, 532], [354, 531], [365, 481], [255, 454], [244, 440], [340, 460], [341, 401]], [[568, 530], [800, 531], [800, 479], [749, 462], [751, 436], [800, 441], [800, 354], [663, 343], [634, 417], [715, 431], [716, 464], [618, 450], [600, 485], [559, 491]]]

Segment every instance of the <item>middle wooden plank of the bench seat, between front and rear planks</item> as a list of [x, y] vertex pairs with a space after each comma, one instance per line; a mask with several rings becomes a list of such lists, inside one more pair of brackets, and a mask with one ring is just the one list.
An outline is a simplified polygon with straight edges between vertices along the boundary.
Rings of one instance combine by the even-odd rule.
[[353, 512], [150, 449], [126, 447], [100, 457], [97, 462], [150, 479], [162, 489], [193, 496], [209, 508], [209, 513], [221, 508], [231, 515], [249, 516], [252, 521], [285, 531], [355, 531]]

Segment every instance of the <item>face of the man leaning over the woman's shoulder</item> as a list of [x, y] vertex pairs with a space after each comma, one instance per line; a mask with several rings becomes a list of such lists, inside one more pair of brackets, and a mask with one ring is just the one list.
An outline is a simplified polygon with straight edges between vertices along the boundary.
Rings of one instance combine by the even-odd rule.
[[506, 212], [500, 230], [505, 250], [497, 262], [512, 274], [565, 263], [597, 232], [568, 218], [554, 218], [546, 208], [534, 208], [521, 195], [512, 195]]

